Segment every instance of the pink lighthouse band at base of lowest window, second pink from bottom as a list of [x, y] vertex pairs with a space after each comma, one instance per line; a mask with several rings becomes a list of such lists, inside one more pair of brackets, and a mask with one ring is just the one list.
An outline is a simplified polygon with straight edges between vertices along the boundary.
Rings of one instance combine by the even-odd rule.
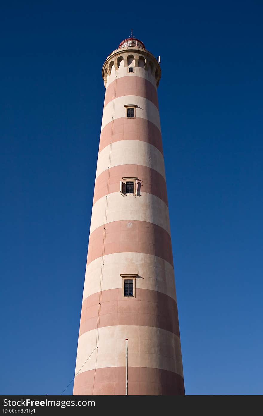
[[[143, 277], [143, 276], [141, 276]], [[120, 280], [122, 277], [119, 277]], [[101, 299], [99, 300], [99, 295]], [[124, 298], [123, 289], [94, 293], [82, 303], [79, 337], [84, 332], [115, 325], [140, 325], [165, 329], [180, 337], [177, 304], [164, 293], [136, 289], [136, 297]]]

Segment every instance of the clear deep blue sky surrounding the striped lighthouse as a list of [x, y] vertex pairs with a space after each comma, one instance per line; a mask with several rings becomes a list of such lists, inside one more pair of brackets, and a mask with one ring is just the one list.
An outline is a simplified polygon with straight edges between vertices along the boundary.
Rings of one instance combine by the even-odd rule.
[[186, 394], [262, 394], [263, 5], [181, 3], [2, 8], [0, 394], [74, 376], [101, 68], [131, 27], [161, 55]]

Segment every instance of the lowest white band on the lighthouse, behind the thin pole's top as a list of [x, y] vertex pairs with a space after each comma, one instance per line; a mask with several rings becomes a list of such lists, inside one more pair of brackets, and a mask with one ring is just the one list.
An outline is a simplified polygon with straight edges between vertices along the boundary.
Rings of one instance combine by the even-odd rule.
[[96, 337], [97, 329], [79, 337], [75, 374], [94, 368], [124, 367], [125, 338], [128, 338], [129, 366], [159, 368], [183, 376], [180, 339], [172, 332], [137, 325], [102, 327], [99, 328], [98, 348], [92, 353]]

